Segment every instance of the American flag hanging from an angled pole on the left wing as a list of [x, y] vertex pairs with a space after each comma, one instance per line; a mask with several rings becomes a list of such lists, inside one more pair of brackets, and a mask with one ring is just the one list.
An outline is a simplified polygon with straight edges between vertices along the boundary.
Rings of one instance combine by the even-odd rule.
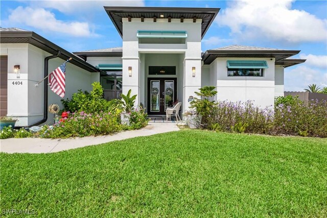
[[54, 71], [52, 71], [49, 76], [50, 89], [54, 91], [56, 94], [58, 94], [61, 98], [65, 96], [66, 62], [61, 64]]

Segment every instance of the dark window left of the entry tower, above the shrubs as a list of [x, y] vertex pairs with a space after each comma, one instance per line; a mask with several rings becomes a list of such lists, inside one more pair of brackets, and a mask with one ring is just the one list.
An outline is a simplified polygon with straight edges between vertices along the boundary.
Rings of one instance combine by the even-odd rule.
[[104, 99], [120, 99], [123, 88], [122, 71], [104, 71], [101, 70], [100, 83], [103, 88]]

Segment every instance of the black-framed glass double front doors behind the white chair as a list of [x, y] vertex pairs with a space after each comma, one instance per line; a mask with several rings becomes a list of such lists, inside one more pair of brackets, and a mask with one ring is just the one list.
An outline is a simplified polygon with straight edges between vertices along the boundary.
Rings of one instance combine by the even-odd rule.
[[176, 78], [148, 78], [148, 114], [164, 115], [177, 100]]

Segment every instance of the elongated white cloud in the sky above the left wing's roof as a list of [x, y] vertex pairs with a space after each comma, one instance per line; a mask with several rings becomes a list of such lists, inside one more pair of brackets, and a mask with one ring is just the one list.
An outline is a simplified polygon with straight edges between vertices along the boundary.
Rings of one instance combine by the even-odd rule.
[[26, 25], [42, 31], [64, 33], [71, 36], [95, 36], [87, 22], [62, 21], [43, 8], [17, 7], [5, 21], [9, 26]]

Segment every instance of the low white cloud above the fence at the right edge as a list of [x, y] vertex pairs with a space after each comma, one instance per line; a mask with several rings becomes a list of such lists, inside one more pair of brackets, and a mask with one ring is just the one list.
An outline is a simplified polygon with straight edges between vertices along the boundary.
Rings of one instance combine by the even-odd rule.
[[327, 86], [327, 72], [299, 65], [293, 69], [285, 69], [285, 91], [303, 91], [309, 84], [317, 84], [320, 88]]

